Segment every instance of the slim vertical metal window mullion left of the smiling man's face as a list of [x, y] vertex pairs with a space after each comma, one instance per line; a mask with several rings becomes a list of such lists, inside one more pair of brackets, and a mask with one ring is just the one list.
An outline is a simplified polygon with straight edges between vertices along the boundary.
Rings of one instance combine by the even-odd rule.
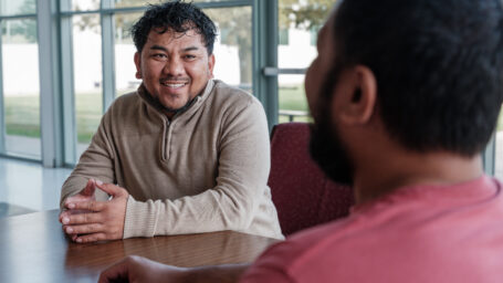
[[[102, 0], [102, 9], [111, 9], [113, 0]], [[103, 70], [103, 113], [115, 98], [115, 41], [114, 15], [101, 14], [102, 19], [102, 70]]]

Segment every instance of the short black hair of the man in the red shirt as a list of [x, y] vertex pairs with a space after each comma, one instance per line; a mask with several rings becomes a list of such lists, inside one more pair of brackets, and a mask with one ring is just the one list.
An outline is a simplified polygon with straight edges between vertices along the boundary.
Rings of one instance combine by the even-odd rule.
[[374, 72], [392, 138], [415, 151], [483, 150], [503, 97], [500, 0], [345, 0], [333, 24], [334, 65]]

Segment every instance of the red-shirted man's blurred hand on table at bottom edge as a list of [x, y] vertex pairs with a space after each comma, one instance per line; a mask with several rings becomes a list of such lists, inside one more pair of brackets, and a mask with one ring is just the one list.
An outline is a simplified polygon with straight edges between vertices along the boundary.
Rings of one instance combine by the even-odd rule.
[[186, 270], [130, 255], [103, 271], [98, 282], [182, 282]]

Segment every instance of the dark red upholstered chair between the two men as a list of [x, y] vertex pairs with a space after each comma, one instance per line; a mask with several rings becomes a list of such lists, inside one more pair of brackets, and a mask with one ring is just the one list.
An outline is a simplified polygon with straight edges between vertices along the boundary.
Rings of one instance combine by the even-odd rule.
[[352, 189], [331, 181], [311, 159], [310, 133], [306, 123], [285, 123], [271, 134], [269, 186], [285, 235], [345, 217], [354, 203]]

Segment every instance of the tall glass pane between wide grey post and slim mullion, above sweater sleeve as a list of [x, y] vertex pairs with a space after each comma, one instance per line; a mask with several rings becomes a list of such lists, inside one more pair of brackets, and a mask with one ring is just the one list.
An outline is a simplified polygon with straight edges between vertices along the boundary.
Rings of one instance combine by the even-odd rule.
[[103, 113], [102, 35], [98, 14], [73, 17], [73, 74], [77, 156], [87, 147]]

